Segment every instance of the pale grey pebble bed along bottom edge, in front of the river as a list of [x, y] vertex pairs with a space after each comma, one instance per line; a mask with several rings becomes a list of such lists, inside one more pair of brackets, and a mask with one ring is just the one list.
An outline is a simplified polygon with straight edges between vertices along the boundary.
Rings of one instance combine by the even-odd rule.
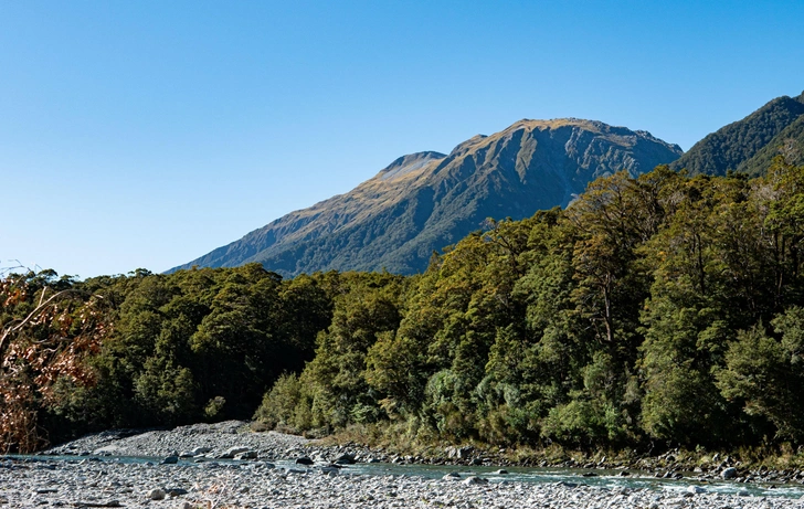
[[[12, 466], [17, 460], [11, 462]], [[262, 464], [245, 466], [53, 460], [54, 469], [0, 469], [0, 503], [27, 507], [263, 507], [349, 508], [686, 508], [797, 509], [800, 500], [740, 497], [690, 486], [684, 492], [518, 481], [489, 483], [470, 476], [445, 483], [416, 476], [357, 476], [320, 469], [288, 475]], [[348, 470], [348, 469], [345, 469]], [[338, 469], [330, 467], [329, 473]], [[56, 487], [51, 488], [51, 487]], [[694, 497], [694, 498], [687, 498]], [[694, 501], [694, 502], [692, 502]], [[690, 506], [694, 503], [694, 506]]]

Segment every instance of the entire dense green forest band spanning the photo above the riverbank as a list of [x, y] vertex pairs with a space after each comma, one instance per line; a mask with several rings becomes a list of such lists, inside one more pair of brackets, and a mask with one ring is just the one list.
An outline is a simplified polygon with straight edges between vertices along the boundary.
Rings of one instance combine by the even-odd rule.
[[0, 445], [255, 417], [406, 439], [804, 444], [804, 167], [595, 180], [424, 274], [260, 265], [0, 286]]

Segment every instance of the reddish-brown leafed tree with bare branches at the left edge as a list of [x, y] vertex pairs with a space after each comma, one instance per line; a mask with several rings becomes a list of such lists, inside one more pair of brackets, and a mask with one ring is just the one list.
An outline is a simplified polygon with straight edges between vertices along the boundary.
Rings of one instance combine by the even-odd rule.
[[[103, 300], [56, 274], [0, 279], [0, 450], [31, 453], [47, 443], [40, 414], [57, 407], [60, 384], [91, 385], [87, 356], [108, 333]], [[54, 286], [59, 290], [51, 290]]]

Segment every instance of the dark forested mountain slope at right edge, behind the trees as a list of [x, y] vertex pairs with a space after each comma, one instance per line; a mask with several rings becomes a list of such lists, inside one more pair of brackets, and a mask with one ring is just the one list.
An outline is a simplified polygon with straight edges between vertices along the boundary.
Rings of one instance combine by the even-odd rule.
[[[804, 153], [804, 93], [798, 97], [776, 97], [742, 120], [708, 135], [680, 159], [674, 170], [690, 174], [726, 174], [741, 171], [762, 173], [780, 148]], [[794, 162], [794, 161], [790, 161]]]

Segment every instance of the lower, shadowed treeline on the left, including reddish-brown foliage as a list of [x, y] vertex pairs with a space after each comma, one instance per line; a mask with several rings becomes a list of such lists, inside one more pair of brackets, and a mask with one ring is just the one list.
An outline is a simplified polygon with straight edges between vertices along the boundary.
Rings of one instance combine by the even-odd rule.
[[0, 286], [0, 450], [87, 431], [250, 418], [311, 359], [334, 295], [369, 276], [282, 280], [252, 264]]

